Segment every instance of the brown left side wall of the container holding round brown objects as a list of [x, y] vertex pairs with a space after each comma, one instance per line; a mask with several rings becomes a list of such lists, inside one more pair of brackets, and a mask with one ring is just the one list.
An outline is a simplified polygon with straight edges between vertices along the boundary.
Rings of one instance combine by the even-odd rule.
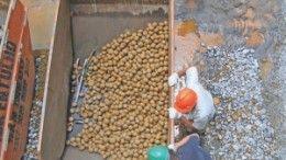
[[37, 146], [40, 160], [59, 159], [66, 140], [69, 78], [73, 66], [69, 1], [56, 2]]

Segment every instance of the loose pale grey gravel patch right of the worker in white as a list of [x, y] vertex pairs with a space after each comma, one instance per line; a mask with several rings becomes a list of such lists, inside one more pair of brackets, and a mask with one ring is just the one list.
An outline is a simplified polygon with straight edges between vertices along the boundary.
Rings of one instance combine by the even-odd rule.
[[207, 47], [202, 84], [220, 99], [217, 115], [204, 137], [213, 159], [265, 159], [276, 156], [276, 138], [263, 103], [255, 50]]

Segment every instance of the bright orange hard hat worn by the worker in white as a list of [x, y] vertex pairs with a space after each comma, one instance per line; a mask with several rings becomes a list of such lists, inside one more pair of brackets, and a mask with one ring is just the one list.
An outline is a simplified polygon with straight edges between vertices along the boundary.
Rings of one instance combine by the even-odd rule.
[[197, 94], [191, 89], [183, 89], [178, 92], [175, 108], [180, 113], [188, 113], [197, 103]]

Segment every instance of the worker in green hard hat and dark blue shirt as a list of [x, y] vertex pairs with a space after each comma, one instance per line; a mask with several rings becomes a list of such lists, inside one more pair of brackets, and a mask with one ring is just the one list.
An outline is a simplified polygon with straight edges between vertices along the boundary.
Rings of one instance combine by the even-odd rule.
[[211, 160], [209, 152], [199, 146], [199, 135], [191, 134], [168, 147], [155, 146], [147, 150], [148, 160]]

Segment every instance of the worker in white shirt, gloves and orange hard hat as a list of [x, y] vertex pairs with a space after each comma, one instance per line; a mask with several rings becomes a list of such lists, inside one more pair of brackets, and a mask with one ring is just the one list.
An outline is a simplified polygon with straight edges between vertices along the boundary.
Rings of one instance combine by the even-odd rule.
[[211, 94], [198, 81], [196, 67], [183, 69], [168, 78], [168, 84], [175, 85], [179, 77], [186, 76], [186, 87], [182, 89], [169, 108], [169, 118], [182, 119], [193, 133], [205, 133], [207, 124], [215, 115]]

